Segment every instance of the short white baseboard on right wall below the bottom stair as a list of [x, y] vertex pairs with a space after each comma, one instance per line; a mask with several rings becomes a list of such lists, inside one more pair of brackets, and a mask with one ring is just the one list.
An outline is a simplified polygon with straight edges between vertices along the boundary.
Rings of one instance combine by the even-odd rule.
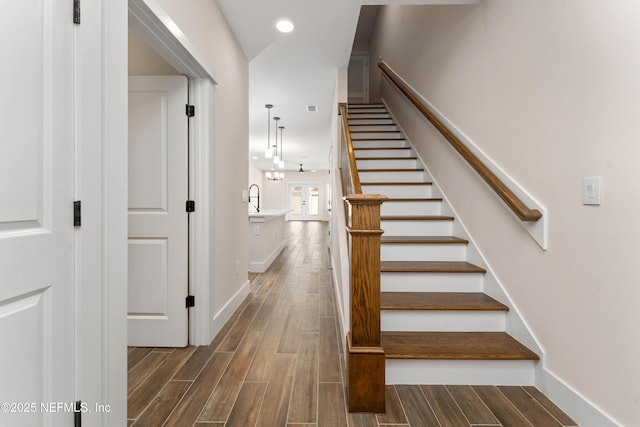
[[573, 418], [580, 427], [619, 427], [622, 425], [542, 366], [538, 366], [536, 369], [535, 386]]

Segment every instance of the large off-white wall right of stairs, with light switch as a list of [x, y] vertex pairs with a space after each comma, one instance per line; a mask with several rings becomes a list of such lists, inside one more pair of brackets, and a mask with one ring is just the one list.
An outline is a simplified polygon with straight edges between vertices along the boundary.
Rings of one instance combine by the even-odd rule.
[[[547, 209], [543, 251], [415, 109], [372, 75], [505, 285], [547, 370], [624, 425], [640, 414], [640, 3], [387, 6], [372, 42]], [[601, 206], [581, 183], [601, 176]]]

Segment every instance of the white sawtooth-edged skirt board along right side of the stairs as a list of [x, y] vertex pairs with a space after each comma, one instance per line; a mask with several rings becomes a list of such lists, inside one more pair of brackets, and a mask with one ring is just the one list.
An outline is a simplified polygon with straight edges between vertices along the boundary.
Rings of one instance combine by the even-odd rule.
[[418, 150], [415, 149], [415, 146], [411, 142], [411, 139], [407, 136], [407, 133], [404, 131], [404, 129], [402, 129], [402, 126], [394, 116], [389, 106], [384, 101], [383, 103], [389, 115], [395, 121], [396, 126], [402, 132], [407, 145], [411, 147], [412, 153], [418, 158], [418, 164], [421, 164], [424, 167], [425, 177], [427, 177], [433, 183], [431, 190], [433, 197], [442, 199], [442, 215], [449, 215], [455, 218], [455, 220], [453, 221], [453, 235], [463, 239], [467, 239], [469, 241], [469, 244], [467, 246], [467, 261], [479, 267], [482, 267], [487, 271], [483, 277], [483, 292], [509, 307], [509, 311], [505, 314], [505, 332], [507, 332], [516, 340], [520, 341], [525, 346], [529, 347], [529, 349], [531, 349], [534, 353], [538, 354], [540, 356], [540, 361], [536, 362], [536, 365], [544, 366], [544, 351], [539, 341], [533, 334], [533, 331], [528, 326], [520, 310], [518, 310], [517, 305], [509, 296], [506, 288], [500, 282], [491, 265], [486, 261], [485, 256], [478, 248], [478, 245], [473, 239], [471, 233], [469, 233], [469, 231], [467, 230], [460, 215], [458, 215], [447, 196], [440, 189], [440, 185], [438, 185], [437, 179], [429, 170], [429, 167], [422, 159]]

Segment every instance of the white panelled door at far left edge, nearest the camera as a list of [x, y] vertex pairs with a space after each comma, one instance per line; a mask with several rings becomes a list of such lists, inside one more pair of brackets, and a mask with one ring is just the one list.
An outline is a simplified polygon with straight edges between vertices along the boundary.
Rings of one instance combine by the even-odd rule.
[[74, 25], [68, 1], [1, 4], [0, 425], [69, 426]]

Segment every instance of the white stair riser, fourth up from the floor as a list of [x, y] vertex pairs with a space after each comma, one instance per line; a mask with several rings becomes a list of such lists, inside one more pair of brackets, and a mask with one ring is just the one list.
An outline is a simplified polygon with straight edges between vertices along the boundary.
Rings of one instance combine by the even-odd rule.
[[383, 243], [380, 245], [380, 259], [382, 261], [466, 261], [467, 246], [446, 243]]

